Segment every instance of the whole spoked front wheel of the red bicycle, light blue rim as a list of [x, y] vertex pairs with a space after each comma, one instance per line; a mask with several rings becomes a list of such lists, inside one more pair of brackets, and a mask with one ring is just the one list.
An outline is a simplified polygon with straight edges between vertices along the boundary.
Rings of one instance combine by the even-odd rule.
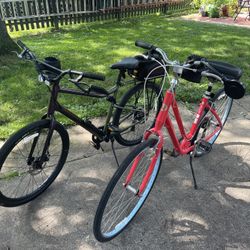
[[[153, 166], [144, 190], [138, 195], [142, 180], [155, 156], [156, 139], [138, 145], [123, 161], [104, 191], [94, 219], [94, 235], [98, 241], [109, 241], [120, 234], [132, 221], [147, 199], [160, 170], [162, 150]], [[135, 167], [136, 164], [136, 168]], [[132, 179], [127, 182], [131, 169]]]

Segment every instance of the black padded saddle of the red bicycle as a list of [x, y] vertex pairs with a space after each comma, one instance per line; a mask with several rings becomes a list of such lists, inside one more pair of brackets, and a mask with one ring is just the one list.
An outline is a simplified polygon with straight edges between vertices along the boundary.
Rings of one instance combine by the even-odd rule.
[[232, 64], [219, 61], [208, 61], [208, 63], [220, 74], [226, 76], [229, 79], [239, 80], [242, 76], [242, 70]]

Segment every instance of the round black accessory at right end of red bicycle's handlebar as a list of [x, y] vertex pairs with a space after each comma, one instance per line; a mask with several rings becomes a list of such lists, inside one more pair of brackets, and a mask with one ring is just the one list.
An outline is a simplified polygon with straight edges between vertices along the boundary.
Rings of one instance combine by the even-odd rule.
[[224, 89], [225, 93], [233, 99], [242, 98], [246, 92], [244, 84], [237, 80], [224, 81]]

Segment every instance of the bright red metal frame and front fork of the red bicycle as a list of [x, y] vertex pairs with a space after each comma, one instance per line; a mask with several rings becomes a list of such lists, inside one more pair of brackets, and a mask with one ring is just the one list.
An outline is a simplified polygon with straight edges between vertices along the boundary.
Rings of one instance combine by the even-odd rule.
[[[199, 105], [199, 109], [198, 109], [196, 116], [195, 116], [195, 120], [192, 123], [192, 126], [191, 126], [189, 132], [186, 133], [185, 129], [184, 129], [183, 121], [182, 121], [182, 118], [181, 118], [181, 115], [179, 112], [178, 104], [177, 104], [177, 101], [175, 99], [174, 89], [175, 89], [175, 87], [172, 85], [166, 91], [161, 110], [156, 118], [155, 126], [154, 126], [154, 128], [146, 131], [146, 133], [144, 135], [145, 140], [147, 140], [151, 135], [156, 135], [158, 138], [158, 143], [155, 146], [156, 154], [154, 154], [154, 157], [152, 158], [151, 163], [148, 167], [148, 170], [147, 170], [147, 172], [142, 180], [142, 183], [138, 189], [138, 192], [137, 192], [138, 196], [140, 196], [140, 194], [142, 194], [143, 191], [145, 190], [145, 187], [149, 181], [149, 178], [154, 170], [154, 166], [156, 164], [156, 161], [157, 161], [157, 159], [161, 153], [161, 150], [163, 148], [163, 144], [164, 144], [164, 137], [163, 137], [163, 133], [162, 133], [163, 126], [168, 131], [168, 134], [169, 134], [170, 139], [172, 141], [174, 150], [180, 155], [191, 153], [194, 150], [194, 148], [195, 148], [194, 138], [196, 137], [196, 134], [198, 132], [198, 129], [199, 129], [199, 126], [202, 122], [204, 114], [206, 114], [208, 111], [211, 111], [211, 113], [215, 116], [215, 118], [217, 119], [218, 124], [219, 124], [218, 128], [211, 135], [209, 135], [209, 138], [211, 138], [215, 134], [219, 133], [219, 131], [223, 127], [221, 119], [218, 116], [216, 110], [209, 103], [210, 98], [211, 98], [210, 94], [211, 94], [211, 90], [212, 90], [211, 86], [209, 86], [206, 93], [202, 97], [201, 103]], [[169, 117], [170, 107], [173, 110], [174, 118], [177, 122], [178, 129], [179, 129], [181, 137], [182, 137], [181, 140], [179, 140], [177, 138], [173, 123]], [[139, 164], [142, 157], [143, 157], [143, 155], [141, 153], [133, 162], [133, 165], [132, 165], [132, 167], [128, 173], [128, 176], [126, 178], [126, 181], [124, 183], [125, 187], [130, 183], [131, 179], [133, 178], [134, 171], [135, 171], [135, 169], [136, 169], [137, 165]]]

